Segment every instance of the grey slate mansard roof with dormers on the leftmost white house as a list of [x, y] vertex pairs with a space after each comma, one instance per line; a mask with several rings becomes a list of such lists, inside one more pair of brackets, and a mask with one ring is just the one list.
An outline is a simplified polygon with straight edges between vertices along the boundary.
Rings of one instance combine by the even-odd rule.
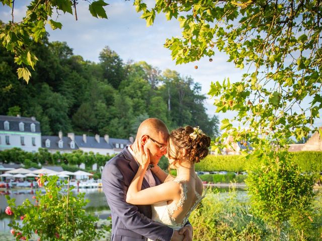
[[[33, 120], [31, 117], [18, 117], [18, 116], [10, 116], [10, 115], [0, 115], [0, 130], [5, 131], [5, 121], [9, 122], [9, 130], [12, 132], [31, 132], [30, 124], [35, 124], [34, 133], [41, 133], [40, 131], [40, 123], [38, 121]], [[24, 131], [19, 130], [19, 123], [24, 123]]]

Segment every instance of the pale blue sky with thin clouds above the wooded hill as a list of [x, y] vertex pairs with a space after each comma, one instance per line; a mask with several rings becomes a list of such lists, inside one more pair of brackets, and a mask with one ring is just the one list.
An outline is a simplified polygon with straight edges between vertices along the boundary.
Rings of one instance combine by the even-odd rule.
[[[23, 1], [26, 4], [27, 1]], [[207, 95], [210, 84], [213, 81], [230, 81], [241, 79], [246, 69], [235, 68], [233, 63], [227, 62], [228, 57], [224, 53], [216, 52], [210, 62], [209, 58], [203, 58], [193, 63], [176, 65], [172, 60], [170, 50], [163, 45], [167, 38], [181, 36], [181, 29], [177, 20], [167, 21], [163, 14], [157, 15], [154, 24], [146, 27], [141, 14], [136, 13], [133, 1], [111, 0], [105, 1], [109, 5], [105, 7], [108, 19], [94, 18], [86, 1], [79, 1], [76, 7], [78, 20], [70, 14], [58, 16], [61, 22], [61, 30], [51, 30], [47, 26], [50, 41], [65, 41], [73, 49], [75, 55], [81, 55], [85, 60], [99, 61], [99, 53], [105, 46], [114, 50], [126, 63], [146, 61], [161, 71], [169, 68], [176, 70], [182, 76], [191, 76], [195, 82], [202, 86], [201, 93], [207, 97], [205, 107], [208, 115], [216, 114], [219, 119], [232, 118], [233, 112], [215, 113], [213, 99]], [[153, 3], [154, 1], [149, 0]], [[20, 6], [19, 6], [20, 4]], [[15, 21], [21, 19], [26, 12], [25, 5], [17, 2], [15, 7]], [[0, 5], [0, 19], [4, 22], [11, 20], [11, 9]], [[53, 19], [55, 20], [55, 19]], [[198, 69], [195, 69], [195, 65]], [[322, 119], [317, 120], [317, 125], [322, 126]]]

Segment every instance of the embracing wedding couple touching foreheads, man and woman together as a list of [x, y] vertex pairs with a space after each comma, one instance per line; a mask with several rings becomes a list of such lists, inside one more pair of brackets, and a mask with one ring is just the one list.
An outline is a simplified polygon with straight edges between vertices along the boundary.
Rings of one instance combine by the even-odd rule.
[[[194, 164], [208, 155], [209, 146], [210, 138], [199, 128], [169, 133], [157, 118], [143, 121], [133, 145], [103, 169], [112, 240], [192, 240], [188, 217], [203, 197]], [[175, 178], [157, 165], [164, 155], [169, 167], [177, 169]]]

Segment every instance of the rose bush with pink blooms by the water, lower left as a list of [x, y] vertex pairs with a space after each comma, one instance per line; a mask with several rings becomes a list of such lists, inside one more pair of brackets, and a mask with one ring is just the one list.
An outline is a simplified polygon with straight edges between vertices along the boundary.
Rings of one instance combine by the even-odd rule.
[[[95, 240], [104, 235], [103, 229], [95, 228], [98, 218], [84, 210], [89, 202], [84, 199], [85, 193], [74, 196], [73, 187], [65, 189], [67, 182], [59, 182], [57, 176], [42, 176], [37, 182], [46, 192], [38, 190], [32, 200], [26, 199], [20, 206], [6, 196], [6, 213], [14, 217], [8, 225], [16, 240], [28, 240], [35, 234], [38, 240]], [[22, 220], [22, 225], [17, 219]]]

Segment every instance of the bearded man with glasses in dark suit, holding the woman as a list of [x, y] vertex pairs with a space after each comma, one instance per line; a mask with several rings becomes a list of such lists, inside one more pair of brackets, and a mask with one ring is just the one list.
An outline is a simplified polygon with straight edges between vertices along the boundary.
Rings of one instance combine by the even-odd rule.
[[[167, 153], [169, 130], [157, 118], [148, 118], [137, 130], [135, 142], [146, 145], [151, 164], [157, 165]], [[112, 215], [112, 241], [144, 241], [150, 238], [156, 241], [191, 241], [192, 226], [188, 222], [180, 231], [151, 220], [150, 205], [132, 205], [125, 201], [127, 189], [135, 176], [138, 163], [133, 157], [135, 145], [125, 147], [112, 158], [102, 172], [103, 190]], [[160, 181], [147, 170], [142, 189], [159, 185]]]

